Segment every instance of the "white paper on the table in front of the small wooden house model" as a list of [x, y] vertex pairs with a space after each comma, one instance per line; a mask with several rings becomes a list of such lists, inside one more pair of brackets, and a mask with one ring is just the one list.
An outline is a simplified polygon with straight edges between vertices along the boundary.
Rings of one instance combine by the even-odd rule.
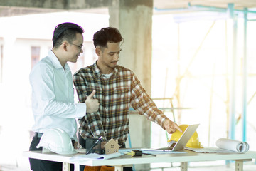
[[99, 155], [96, 153], [90, 153], [88, 155], [78, 155], [78, 156], [74, 156], [72, 157], [70, 160], [71, 161], [81, 161], [81, 160], [106, 160], [106, 159], [111, 159], [114, 157], [120, 157], [122, 154], [119, 152], [115, 152], [109, 155]]

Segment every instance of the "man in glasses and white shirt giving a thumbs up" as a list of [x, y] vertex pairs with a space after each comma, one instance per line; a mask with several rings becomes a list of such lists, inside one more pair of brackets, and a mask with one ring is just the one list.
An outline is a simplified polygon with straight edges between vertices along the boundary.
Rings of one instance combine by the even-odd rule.
[[[32, 88], [32, 110], [35, 136], [29, 150], [36, 145], [43, 133], [50, 128], [60, 128], [70, 136], [74, 147], [78, 144], [77, 123], [86, 113], [96, 112], [98, 100], [93, 99], [93, 90], [85, 103], [74, 103], [73, 78], [67, 62], [75, 63], [82, 53], [84, 30], [73, 23], [63, 23], [55, 27], [53, 49], [48, 56], [33, 67], [30, 74]], [[31, 170], [62, 170], [61, 162], [29, 159]]]

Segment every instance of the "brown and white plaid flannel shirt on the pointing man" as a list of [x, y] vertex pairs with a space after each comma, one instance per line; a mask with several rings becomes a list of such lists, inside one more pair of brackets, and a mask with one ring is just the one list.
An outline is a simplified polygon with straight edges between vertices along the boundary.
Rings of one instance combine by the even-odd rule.
[[110, 78], [107, 78], [94, 63], [74, 74], [74, 84], [80, 103], [85, 102], [92, 90], [96, 90], [94, 98], [100, 103], [98, 112], [87, 113], [78, 120], [82, 138], [102, 136], [105, 141], [113, 138], [118, 140], [119, 145], [124, 145], [129, 134], [131, 105], [140, 115], [145, 115], [148, 120], [164, 128], [166, 116], [156, 107], [134, 73], [127, 68], [117, 66]]

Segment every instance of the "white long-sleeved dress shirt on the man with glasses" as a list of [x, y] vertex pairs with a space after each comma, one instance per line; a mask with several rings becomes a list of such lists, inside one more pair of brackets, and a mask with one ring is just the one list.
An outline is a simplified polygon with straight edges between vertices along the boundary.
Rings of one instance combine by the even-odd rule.
[[33, 67], [30, 83], [35, 120], [32, 130], [44, 133], [49, 128], [60, 128], [77, 141], [75, 118], [86, 114], [86, 105], [74, 103], [73, 78], [68, 64], [64, 69], [53, 51], [49, 51], [48, 56]]

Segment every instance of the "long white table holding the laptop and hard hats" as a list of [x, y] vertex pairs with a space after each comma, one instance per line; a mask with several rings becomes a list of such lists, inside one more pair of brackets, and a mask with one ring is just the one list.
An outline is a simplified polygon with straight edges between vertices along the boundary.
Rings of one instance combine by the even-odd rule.
[[75, 155], [58, 155], [54, 152], [42, 153], [41, 151], [23, 152], [23, 156], [50, 160], [55, 162], [63, 162], [63, 171], [69, 171], [70, 163], [75, 165], [75, 170], [79, 170], [79, 165], [88, 166], [101, 166], [101, 165], [113, 165], [115, 171], [122, 171], [125, 165], [136, 164], [149, 164], [156, 162], [181, 162], [181, 171], [188, 170], [188, 162], [202, 162], [202, 161], [215, 161], [215, 160], [235, 160], [235, 171], [243, 170], [244, 161], [252, 161], [256, 158], [256, 152], [246, 152], [245, 154], [238, 153], [196, 153], [188, 150], [184, 150], [186, 153], [174, 153], [157, 155], [156, 157], [150, 155], [142, 155], [142, 157], [131, 157], [130, 155], [124, 155], [121, 157], [112, 158], [109, 160], [84, 160], [78, 162], [70, 162], [70, 158]]

